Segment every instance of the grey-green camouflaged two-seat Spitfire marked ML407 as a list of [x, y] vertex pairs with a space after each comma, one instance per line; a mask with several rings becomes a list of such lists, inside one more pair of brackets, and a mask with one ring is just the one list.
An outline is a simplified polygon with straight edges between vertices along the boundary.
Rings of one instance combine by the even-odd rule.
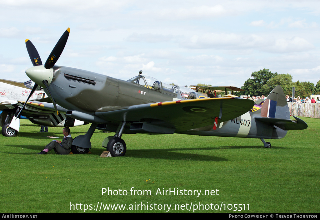
[[[58, 114], [57, 103], [66, 109], [62, 110], [63, 114], [92, 123], [85, 135], [74, 139], [73, 153], [89, 151], [95, 129], [115, 132], [114, 136], [104, 139], [102, 146], [112, 156], [124, 156], [126, 144], [121, 138], [124, 133], [260, 138], [265, 147], [270, 147], [271, 144], [263, 138], [283, 138], [287, 130], [308, 127], [297, 117], [290, 119], [280, 86], [272, 90], [260, 110], [249, 112], [254, 105], [252, 100], [199, 98], [190, 88], [162, 83], [142, 75], [142, 71], [124, 81], [81, 69], [55, 66], [69, 32], [68, 28], [44, 65], [36, 48], [27, 39], [26, 46], [34, 67], [27, 69], [26, 74], [35, 82], [32, 90], [40, 85], [52, 99], [52, 103], [34, 101], [34, 104], [54, 109]], [[99, 99], [92, 99], [92, 96]], [[28, 99], [25, 105], [30, 103]]]

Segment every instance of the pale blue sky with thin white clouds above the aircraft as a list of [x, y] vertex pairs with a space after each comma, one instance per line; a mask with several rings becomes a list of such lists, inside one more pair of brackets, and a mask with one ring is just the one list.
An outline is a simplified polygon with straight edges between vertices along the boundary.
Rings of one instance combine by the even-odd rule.
[[128, 80], [241, 87], [267, 68], [320, 80], [318, 0], [0, 1], [0, 78], [28, 80], [29, 39], [44, 61]]

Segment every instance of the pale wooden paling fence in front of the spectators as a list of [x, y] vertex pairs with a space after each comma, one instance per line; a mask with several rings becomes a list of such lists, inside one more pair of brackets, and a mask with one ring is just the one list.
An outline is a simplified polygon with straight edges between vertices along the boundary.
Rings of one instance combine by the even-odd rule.
[[320, 103], [288, 102], [290, 114], [294, 116], [320, 118]]

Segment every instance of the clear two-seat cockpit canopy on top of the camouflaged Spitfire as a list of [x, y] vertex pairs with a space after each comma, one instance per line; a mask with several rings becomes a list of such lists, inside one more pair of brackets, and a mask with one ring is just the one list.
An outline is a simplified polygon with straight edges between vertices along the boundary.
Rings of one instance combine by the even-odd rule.
[[162, 83], [156, 78], [153, 78], [150, 76], [138, 75], [127, 81], [132, 83], [137, 83], [150, 90], [156, 90], [156, 91], [171, 94], [171, 95], [175, 94], [177, 98], [183, 98], [183, 99], [198, 98], [197, 93], [193, 89], [190, 89], [185, 86], [175, 86], [175, 85]]

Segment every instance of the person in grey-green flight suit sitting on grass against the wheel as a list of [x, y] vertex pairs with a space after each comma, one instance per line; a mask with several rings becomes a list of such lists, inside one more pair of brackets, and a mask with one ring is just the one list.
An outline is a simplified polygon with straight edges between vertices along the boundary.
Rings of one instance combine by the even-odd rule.
[[68, 126], [62, 130], [62, 134], [64, 136], [62, 141], [51, 141], [44, 147], [43, 151], [37, 154], [47, 154], [47, 152], [51, 151], [52, 149], [57, 154], [69, 154], [73, 139], [71, 138], [70, 129]]

